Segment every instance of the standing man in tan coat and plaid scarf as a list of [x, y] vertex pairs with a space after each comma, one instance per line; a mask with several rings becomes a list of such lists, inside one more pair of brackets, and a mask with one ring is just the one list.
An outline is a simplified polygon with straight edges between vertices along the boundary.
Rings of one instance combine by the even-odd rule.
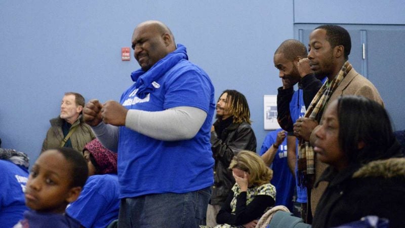
[[[314, 134], [316, 127], [322, 123], [323, 110], [339, 96], [359, 95], [384, 105], [375, 86], [357, 73], [348, 62], [350, 49], [351, 41], [349, 33], [346, 29], [337, 25], [321, 25], [315, 28], [309, 36], [309, 65], [315, 74], [326, 75], [328, 80], [319, 89], [318, 94], [315, 95], [307, 109], [305, 117], [300, 118], [294, 124], [294, 134], [301, 139], [300, 142], [303, 147], [305, 147], [305, 142], [307, 142], [307, 145], [308, 142], [313, 142], [314, 137], [316, 137]], [[306, 150], [304, 149], [304, 151]], [[308, 151], [304, 152], [303, 157], [306, 157], [307, 160], [313, 159], [312, 167], [309, 165], [304, 170], [305, 177], [303, 179], [307, 179], [303, 183], [309, 184], [308, 202], [310, 204], [308, 212], [312, 212], [312, 215], [314, 215], [316, 205], [328, 183], [325, 181], [315, 185], [313, 183], [316, 183], [316, 180], [326, 169], [327, 165], [316, 159], [316, 155], [313, 152], [312, 154], [308, 153]], [[311, 175], [315, 181], [308, 180], [311, 178], [308, 176]]]

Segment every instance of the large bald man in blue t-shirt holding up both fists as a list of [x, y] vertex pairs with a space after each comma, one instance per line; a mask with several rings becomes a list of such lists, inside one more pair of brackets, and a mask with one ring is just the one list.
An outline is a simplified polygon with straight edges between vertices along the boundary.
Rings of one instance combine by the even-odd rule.
[[197, 227], [214, 182], [214, 87], [159, 21], [139, 24], [132, 48], [141, 69], [120, 102], [84, 108], [97, 138], [118, 153], [118, 226]]

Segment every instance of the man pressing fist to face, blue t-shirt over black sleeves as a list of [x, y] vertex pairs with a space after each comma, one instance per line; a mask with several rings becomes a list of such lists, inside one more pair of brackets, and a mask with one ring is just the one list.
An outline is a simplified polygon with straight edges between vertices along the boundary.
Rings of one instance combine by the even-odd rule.
[[[279, 70], [282, 87], [277, 89], [277, 121], [280, 127], [288, 132], [287, 136], [287, 159], [291, 172], [297, 176], [297, 138], [293, 134], [293, 124], [297, 119], [305, 115], [306, 107], [322, 86], [321, 79], [313, 74], [307, 57], [307, 49], [304, 44], [297, 40], [286, 40], [280, 44], [274, 53], [274, 66]], [[323, 77], [325, 78], [325, 77]], [[298, 90], [294, 91], [294, 85], [298, 83]], [[305, 211], [307, 208], [306, 187], [298, 183], [297, 202], [301, 203], [301, 217], [306, 222], [308, 218]]]

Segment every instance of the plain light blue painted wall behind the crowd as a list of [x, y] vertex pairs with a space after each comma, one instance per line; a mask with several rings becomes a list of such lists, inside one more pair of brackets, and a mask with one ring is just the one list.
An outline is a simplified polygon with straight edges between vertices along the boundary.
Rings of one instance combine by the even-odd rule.
[[[1, 1], [3, 147], [24, 151], [33, 164], [64, 92], [82, 93], [87, 100], [118, 100], [132, 84], [130, 72], [139, 68], [133, 56], [121, 61], [121, 47], [130, 47], [138, 23], [156, 19], [188, 48], [189, 59], [209, 73], [216, 97], [225, 89], [246, 95], [260, 148], [267, 133], [263, 95], [276, 94], [280, 86], [272, 63], [275, 49], [294, 37], [294, 23], [405, 24], [401, 1], [366, 2], [370, 15], [365, 9], [339, 10], [342, 21], [336, 8], [323, 1]], [[359, 20], [359, 14], [364, 18]]]

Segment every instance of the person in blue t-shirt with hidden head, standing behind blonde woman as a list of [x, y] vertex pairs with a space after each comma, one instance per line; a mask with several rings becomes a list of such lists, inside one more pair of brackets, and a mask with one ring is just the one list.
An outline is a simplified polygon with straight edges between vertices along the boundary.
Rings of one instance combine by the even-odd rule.
[[287, 163], [287, 133], [282, 129], [271, 131], [263, 141], [259, 155], [273, 170], [271, 183], [275, 186], [275, 206], [284, 205], [293, 211], [295, 179]]

